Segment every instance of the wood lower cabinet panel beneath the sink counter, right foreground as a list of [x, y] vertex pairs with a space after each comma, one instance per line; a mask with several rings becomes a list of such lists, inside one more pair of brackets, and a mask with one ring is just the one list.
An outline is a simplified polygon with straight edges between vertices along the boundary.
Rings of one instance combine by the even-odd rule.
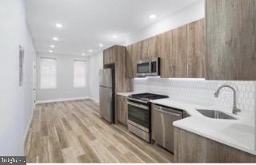
[[256, 155], [174, 127], [174, 163], [256, 163]]

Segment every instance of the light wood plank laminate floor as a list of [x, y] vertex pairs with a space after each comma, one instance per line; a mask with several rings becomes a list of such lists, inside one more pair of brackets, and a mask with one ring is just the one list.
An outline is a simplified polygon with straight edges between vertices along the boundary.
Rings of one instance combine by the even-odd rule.
[[91, 100], [38, 104], [26, 137], [28, 163], [170, 163], [173, 155], [108, 124]]

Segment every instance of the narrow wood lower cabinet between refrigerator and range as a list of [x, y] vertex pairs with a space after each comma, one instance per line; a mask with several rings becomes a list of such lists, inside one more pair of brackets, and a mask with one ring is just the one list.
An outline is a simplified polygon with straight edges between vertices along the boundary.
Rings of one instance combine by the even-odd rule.
[[118, 122], [128, 126], [128, 104], [126, 96], [117, 95], [116, 96], [116, 108], [117, 120]]

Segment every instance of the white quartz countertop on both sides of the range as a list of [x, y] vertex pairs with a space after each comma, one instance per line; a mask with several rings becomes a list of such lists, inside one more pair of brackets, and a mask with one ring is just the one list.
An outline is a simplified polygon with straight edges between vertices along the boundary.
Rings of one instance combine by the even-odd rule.
[[[117, 94], [129, 96], [130, 94], [135, 93], [141, 92], [121, 92]], [[150, 101], [154, 104], [161, 104], [171, 108], [182, 109], [190, 115], [190, 117], [175, 121], [175, 127], [182, 128], [188, 132], [198, 134], [199, 136], [204, 136], [208, 139], [213, 139], [219, 143], [224, 143], [230, 147], [256, 155], [256, 151], [254, 150], [255, 128], [246, 124], [246, 121], [240, 119], [239, 116], [234, 116], [233, 114], [228, 113], [237, 120], [211, 119], [203, 116], [196, 110], [212, 110], [213, 108], [209, 106], [185, 103], [178, 100], [172, 100], [170, 98]]]

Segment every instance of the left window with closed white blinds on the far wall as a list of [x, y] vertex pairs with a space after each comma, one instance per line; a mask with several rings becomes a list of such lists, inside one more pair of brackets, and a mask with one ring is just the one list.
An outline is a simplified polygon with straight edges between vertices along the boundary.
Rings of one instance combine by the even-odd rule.
[[41, 58], [40, 88], [57, 88], [57, 62], [54, 58]]

